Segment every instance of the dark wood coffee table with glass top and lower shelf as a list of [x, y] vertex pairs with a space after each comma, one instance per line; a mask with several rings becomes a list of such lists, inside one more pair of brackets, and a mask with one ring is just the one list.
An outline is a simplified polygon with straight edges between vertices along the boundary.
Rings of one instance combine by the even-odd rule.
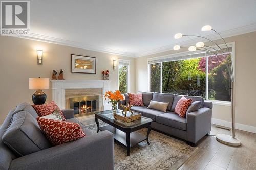
[[[122, 110], [118, 110], [121, 112]], [[99, 120], [109, 124], [103, 127], [99, 127]], [[127, 156], [130, 155], [130, 148], [134, 145], [146, 140], [147, 144], [150, 144], [148, 141], [148, 135], [151, 131], [152, 119], [147, 117], [141, 117], [141, 120], [135, 120], [133, 122], [125, 123], [120, 120], [115, 120], [113, 117], [112, 110], [101, 111], [95, 113], [95, 122], [97, 124], [97, 133], [100, 131], [108, 130], [113, 133], [114, 139], [127, 148]], [[143, 136], [135, 131], [147, 128], [147, 135]]]

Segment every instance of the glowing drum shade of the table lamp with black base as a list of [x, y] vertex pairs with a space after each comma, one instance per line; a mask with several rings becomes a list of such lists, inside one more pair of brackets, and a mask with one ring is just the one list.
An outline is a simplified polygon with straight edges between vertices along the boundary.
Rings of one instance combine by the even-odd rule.
[[49, 89], [49, 78], [29, 78], [30, 90], [44, 90]]

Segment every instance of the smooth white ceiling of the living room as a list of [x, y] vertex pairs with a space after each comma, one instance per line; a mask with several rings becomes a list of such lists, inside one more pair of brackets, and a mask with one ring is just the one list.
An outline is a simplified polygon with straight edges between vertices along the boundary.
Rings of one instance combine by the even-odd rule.
[[203, 25], [223, 34], [254, 31], [255, 11], [255, 0], [33, 0], [30, 37], [141, 56], [188, 40], [175, 40], [178, 32], [213, 34]]

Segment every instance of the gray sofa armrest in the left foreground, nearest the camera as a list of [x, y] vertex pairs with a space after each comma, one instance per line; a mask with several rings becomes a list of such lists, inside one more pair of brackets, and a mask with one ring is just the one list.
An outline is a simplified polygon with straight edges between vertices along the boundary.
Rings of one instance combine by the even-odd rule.
[[114, 140], [99, 132], [14, 159], [9, 169], [114, 169]]

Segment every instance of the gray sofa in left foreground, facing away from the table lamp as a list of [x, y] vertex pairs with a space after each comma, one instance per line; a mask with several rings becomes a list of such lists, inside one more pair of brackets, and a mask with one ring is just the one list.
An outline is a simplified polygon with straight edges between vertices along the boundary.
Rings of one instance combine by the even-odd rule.
[[[2, 137], [15, 114], [22, 112], [28, 117], [36, 118], [37, 114], [30, 104], [22, 103], [11, 110], [0, 128], [0, 169], [114, 169], [114, 140], [109, 131], [93, 134], [76, 118], [74, 110], [62, 110], [69, 122], [80, 124], [86, 136], [76, 141], [40, 150], [25, 156], [17, 156], [3, 142]], [[30, 115], [28, 115], [30, 114]], [[32, 116], [31, 116], [32, 115]], [[28, 127], [28, 126], [27, 126]], [[29, 128], [30, 130], [30, 128]], [[31, 125], [31, 133], [33, 125]], [[13, 136], [22, 145], [18, 136]], [[40, 142], [40, 141], [38, 141]]]

